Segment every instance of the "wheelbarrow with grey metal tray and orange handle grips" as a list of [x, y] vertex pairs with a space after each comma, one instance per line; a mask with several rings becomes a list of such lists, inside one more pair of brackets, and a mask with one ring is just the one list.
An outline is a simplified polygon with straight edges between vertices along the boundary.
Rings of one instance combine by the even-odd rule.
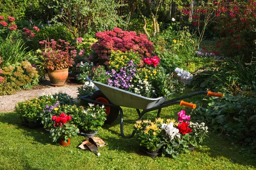
[[[181, 106], [186, 106], [189, 108], [196, 108], [196, 105], [189, 102], [184, 102], [181, 99], [185, 99], [188, 97], [196, 96], [199, 94], [207, 94], [208, 96], [217, 96], [222, 97], [223, 94], [214, 93], [210, 91], [198, 91], [192, 94], [184, 95], [177, 97], [175, 99], [166, 100], [169, 96], [162, 96], [158, 98], [148, 98], [144, 96], [140, 96], [138, 94], [134, 94], [119, 88], [112, 87], [110, 85], [105, 85], [101, 82], [93, 81], [87, 78], [89, 81], [93, 82], [93, 84], [99, 89], [92, 96], [82, 96], [80, 99], [83, 101], [87, 101], [89, 103], [94, 103], [96, 105], [105, 105], [107, 120], [106, 124], [110, 124], [114, 122], [120, 112], [120, 133], [123, 138], [132, 138], [135, 134], [135, 131], [132, 132], [130, 136], [125, 136], [123, 133], [123, 111], [122, 107], [134, 108], [136, 109], [139, 118], [142, 119], [143, 115], [147, 112], [158, 110], [157, 118], [160, 117], [161, 109], [179, 104]], [[181, 101], [180, 101], [181, 100]], [[143, 111], [140, 111], [143, 110]]]

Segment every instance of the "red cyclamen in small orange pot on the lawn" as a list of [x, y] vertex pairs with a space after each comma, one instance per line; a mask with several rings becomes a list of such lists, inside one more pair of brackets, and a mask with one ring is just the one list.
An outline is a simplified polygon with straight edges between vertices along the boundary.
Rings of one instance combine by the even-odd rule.
[[79, 133], [79, 129], [68, 121], [72, 119], [71, 116], [61, 113], [60, 116], [52, 116], [54, 121], [53, 128], [50, 130], [50, 138], [53, 142], [58, 140], [59, 144], [66, 146], [70, 144], [70, 138]]

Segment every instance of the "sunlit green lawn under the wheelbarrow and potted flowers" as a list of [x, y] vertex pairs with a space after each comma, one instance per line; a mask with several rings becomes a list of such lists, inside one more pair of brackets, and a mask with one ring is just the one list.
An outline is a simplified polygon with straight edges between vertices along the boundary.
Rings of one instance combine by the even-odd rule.
[[[198, 99], [201, 96], [187, 101]], [[176, 118], [182, 108], [179, 105], [163, 108], [161, 117], [175, 115]], [[154, 119], [156, 115], [156, 111], [147, 113], [145, 118]], [[124, 108], [125, 135], [131, 133], [136, 119], [134, 109]], [[21, 126], [16, 113], [0, 113], [0, 170], [244, 170], [256, 166], [256, 155], [250, 148], [231, 145], [214, 134], [209, 134], [194, 152], [181, 154], [177, 159], [152, 159], [141, 153], [135, 137], [123, 139], [120, 136], [119, 117], [112, 125], [104, 125], [96, 136], [108, 143], [99, 148], [100, 156], [78, 149], [85, 140], [83, 136], [73, 137], [69, 146], [62, 147], [52, 143], [43, 128]]]

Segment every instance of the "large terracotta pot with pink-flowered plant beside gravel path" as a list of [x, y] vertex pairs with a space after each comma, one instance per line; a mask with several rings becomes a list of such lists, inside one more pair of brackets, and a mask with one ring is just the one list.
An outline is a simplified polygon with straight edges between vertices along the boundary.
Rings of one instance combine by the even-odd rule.
[[57, 43], [55, 40], [39, 42], [41, 45], [45, 45], [42, 55], [51, 85], [58, 87], [65, 85], [68, 68], [72, 66], [76, 57], [76, 50], [71, 50], [69, 42], [65, 42], [65, 40], [59, 40], [59, 42]]

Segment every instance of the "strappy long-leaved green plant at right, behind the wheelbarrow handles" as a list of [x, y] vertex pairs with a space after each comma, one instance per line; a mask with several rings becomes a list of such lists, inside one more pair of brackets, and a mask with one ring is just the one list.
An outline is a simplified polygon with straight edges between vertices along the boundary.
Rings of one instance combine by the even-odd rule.
[[218, 89], [234, 95], [251, 93], [256, 89], [256, 63], [244, 63], [242, 59], [236, 57], [236, 60], [220, 61], [220, 68], [211, 68], [195, 75], [192, 85], [203, 90]]

